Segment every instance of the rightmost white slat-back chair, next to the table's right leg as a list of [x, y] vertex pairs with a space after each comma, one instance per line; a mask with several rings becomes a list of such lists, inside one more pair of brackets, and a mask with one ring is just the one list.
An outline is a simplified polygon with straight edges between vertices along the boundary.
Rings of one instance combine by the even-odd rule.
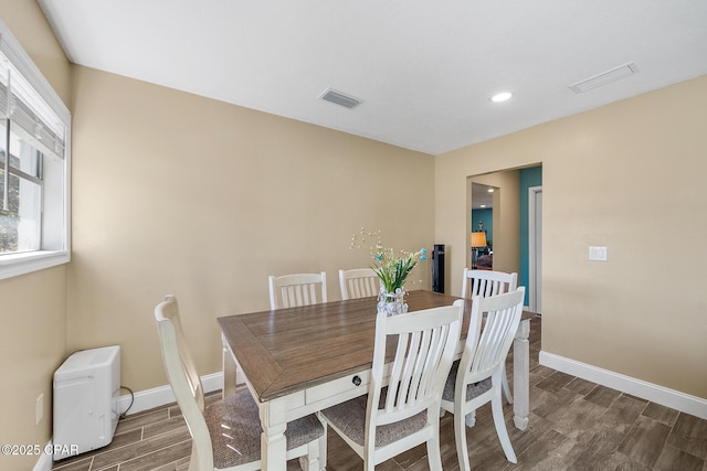
[[506, 355], [520, 323], [524, 298], [525, 287], [520, 287], [505, 295], [476, 296], [473, 300], [464, 353], [462, 360], [454, 362], [442, 395], [442, 408], [454, 414], [456, 453], [462, 470], [469, 470], [465, 417], [488, 402], [506, 459], [517, 462], [504, 420], [502, 378]]

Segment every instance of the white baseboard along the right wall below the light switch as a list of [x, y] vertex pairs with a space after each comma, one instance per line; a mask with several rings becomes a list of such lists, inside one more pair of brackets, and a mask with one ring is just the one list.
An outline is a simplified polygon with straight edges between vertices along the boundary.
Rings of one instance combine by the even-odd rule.
[[707, 399], [701, 397], [690, 396], [679, 390], [669, 389], [657, 384], [599, 368], [553, 353], [541, 351], [539, 357], [540, 364], [544, 366], [641, 397], [652, 403], [661, 404], [701, 419], [707, 419]]

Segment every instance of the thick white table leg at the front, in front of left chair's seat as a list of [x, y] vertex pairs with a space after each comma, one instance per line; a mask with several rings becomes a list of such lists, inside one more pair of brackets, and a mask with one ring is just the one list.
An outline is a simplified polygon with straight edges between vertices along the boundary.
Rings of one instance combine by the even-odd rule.
[[287, 469], [287, 440], [285, 439], [284, 404], [276, 400], [261, 405], [261, 468], [263, 471], [285, 471]]

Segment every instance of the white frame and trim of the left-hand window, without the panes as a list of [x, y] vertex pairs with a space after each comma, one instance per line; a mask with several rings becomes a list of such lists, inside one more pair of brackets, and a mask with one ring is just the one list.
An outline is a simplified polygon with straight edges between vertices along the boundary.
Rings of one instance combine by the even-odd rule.
[[[51, 181], [44, 185], [42, 247], [34, 251], [1, 254], [0, 279], [7, 279], [71, 260], [71, 113], [2, 20], [0, 51], [66, 127], [63, 172], [50, 176]], [[49, 200], [52, 204], [46, 204]], [[62, 203], [55, 204], [57, 201]]]

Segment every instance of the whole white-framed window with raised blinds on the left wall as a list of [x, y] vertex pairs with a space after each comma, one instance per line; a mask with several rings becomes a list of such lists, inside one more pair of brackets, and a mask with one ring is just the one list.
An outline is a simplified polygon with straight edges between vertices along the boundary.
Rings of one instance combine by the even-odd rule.
[[0, 279], [70, 259], [71, 114], [0, 21]]

